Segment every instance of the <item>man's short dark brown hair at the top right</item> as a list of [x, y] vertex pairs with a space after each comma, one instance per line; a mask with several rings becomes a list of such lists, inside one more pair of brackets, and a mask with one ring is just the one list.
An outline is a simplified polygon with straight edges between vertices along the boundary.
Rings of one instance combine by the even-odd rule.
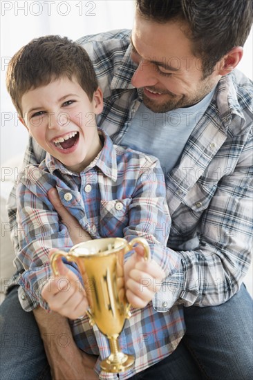
[[204, 77], [232, 48], [245, 44], [253, 21], [253, 0], [136, 0], [136, 6], [151, 21], [186, 21]]

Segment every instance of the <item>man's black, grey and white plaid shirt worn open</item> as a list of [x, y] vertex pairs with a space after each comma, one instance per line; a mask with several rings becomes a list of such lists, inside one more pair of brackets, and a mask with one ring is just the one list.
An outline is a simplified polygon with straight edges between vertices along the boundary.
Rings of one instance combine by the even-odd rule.
[[[115, 144], [142, 101], [142, 91], [131, 85], [135, 66], [129, 37], [129, 30], [114, 30], [78, 41], [91, 56], [104, 91], [97, 124]], [[180, 163], [165, 178], [171, 214], [168, 254], [177, 259], [153, 300], [158, 311], [171, 310], [175, 302], [221, 304], [238, 291], [247, 272], [252, 254], [252, 98], [252, 82], [238, 70], [222, 77]], [[24, 164], [44, 157], [30, 140]], [[9, 216], [18, 250], [15, 189]]]

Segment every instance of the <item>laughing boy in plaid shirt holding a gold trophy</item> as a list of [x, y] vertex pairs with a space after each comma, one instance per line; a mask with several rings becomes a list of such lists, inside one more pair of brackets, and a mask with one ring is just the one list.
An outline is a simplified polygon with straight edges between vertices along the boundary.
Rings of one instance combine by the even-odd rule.
[[[122, 374], [127, 379], [144, 369], [144, 355], [159, 360], [160, 348], [147, 336], [156, 334], [154, 338], [163, 341], [163, 352], [169, 353], [181, 337], [174, 336], [174, 323], [181, 325], [182, 334], [185, 327], [180, 310], [171, 317], [154, 312], [149, 303], [158, 289], [153, 285], [165, 276], [156, 263], [166, 261], [169, 231], [162, 169], [156, 158], [113, 146], [106, 133], [97, 131], [95, 115], [102, 112], [102, 92], [81, 46], [58, 36], [34, 39], [12, 58], [7, 75], [21, 122], [47, 151], [39, 167], [26, 167], [17, 184], [20, 249], [15, 263], [23, 266], [18, 279], [21, 305], [26, 311], [40, 305], [68, 316], [74, 320], [71, 325], [79, 348], [100, 354], [100, 359], [108, 356], [104, 336], [97, 330], [93, 335], [86, 317], [78, 319], [88, 303], [84, 290], [79, 291], [75, 264], [61, 265], [62, 278], [50, 278], [50, 249], [68, 251], [73, 246], [48, 201], [50, 189], [57, 188], [64, 207], [91, 238], [147, 238], [156, 261], [144, 263], [133, 254], [125, 263], [127, 298], [135, 307], [144, 307], [133, 310], [120, 336], [124, 352], [136, 359], [133, 368]], [[63, 278], [68, 279], [66, 287], [59, 286]], [[142, 289], [141, 278], [151, 285]]]

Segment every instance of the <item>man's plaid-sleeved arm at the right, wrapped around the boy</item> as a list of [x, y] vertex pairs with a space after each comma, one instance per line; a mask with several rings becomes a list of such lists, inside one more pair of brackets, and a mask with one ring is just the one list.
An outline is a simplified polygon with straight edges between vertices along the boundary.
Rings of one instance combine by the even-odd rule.
[[[236, 294], [252, 258], [252, 170], [250, 135], [236, 167], [218, 181], [211, 199], [207, 198], [207, 189], [201, 193], [200, 186], [178, 207], [169, 244], [175, 247], [178, 241], [182, 243], [180, 236], [185, 238], [182, 250], [177, 252], [181, 264], [156, 295], [158, 311], [165, 311], [165, 301], [168, 306], [169, 302], [221, 305]], [[208, 206], [205, 202], [209, 202]], [[201, 217], [194, 227], [198, 215]]]

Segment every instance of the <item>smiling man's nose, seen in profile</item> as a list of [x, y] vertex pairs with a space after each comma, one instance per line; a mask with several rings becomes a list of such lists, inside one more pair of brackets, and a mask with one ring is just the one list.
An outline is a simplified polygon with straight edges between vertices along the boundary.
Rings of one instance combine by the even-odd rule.
[[131, 83], [134, 87], [155, 86], [158, 83], [156, 67], [148, 59], [142, 58], [138, 68], [136, 69]]

